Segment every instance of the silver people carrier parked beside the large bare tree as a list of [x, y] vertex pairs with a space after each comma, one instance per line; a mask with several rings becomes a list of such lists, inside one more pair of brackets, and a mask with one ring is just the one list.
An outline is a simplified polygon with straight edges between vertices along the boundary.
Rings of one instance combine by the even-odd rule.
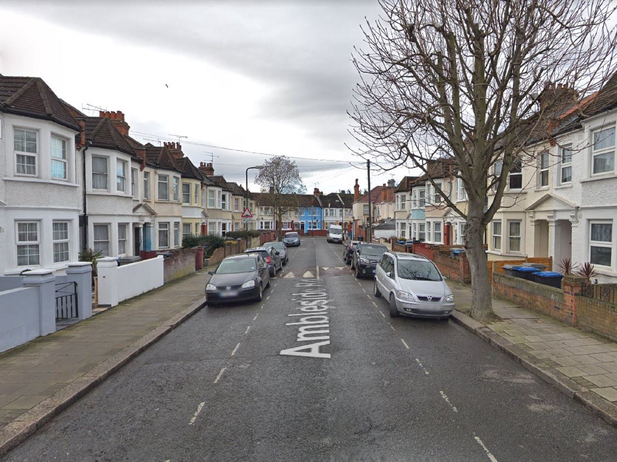
[[386, 252], [375, 274], [373, 294], [390, 304], [390, 315], [448, 318], [454, 296], [435, 264], [422, 255]]

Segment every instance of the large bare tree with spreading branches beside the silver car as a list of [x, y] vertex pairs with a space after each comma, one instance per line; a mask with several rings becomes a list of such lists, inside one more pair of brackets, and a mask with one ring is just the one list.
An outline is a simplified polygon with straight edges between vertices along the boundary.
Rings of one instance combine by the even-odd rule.
[[[557, 100], [569, 98], [568, 106], [576, 107], [614, 70], [615, 34], [607, 20], [615, 2], [380, 0], [380, 5], [383, 16], [362, 27], [365, 49], [354, 52], [360, 83], [350, 116], [363, 146], [354, 152], [386, 168], [406, 164], [424, 173], [434, 160], [455, 163], [467, 209], [437, 192], [466, 219], [472, 315], [488, 320], [486, 225], [500, 207], [513, 163], [532, 137], [550, 134], [552, 121], [563, 113]], [[566, 89], [576, 85], [578, 91], [539, 107], [547, 82], [567, 84]], [[502, 168], [495, 174], [498, 160]]]

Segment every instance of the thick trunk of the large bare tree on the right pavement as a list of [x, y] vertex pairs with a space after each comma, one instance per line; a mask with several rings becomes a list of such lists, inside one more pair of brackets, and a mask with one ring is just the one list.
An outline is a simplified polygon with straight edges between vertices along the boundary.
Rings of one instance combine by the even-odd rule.
[[484, 225], [482, 216], [484, 204], [473, 203], [470, 198], [465, 230], [465, 249], [471, 270], [471, 317], [479, 322], [490, 322], [494, 318], [491, 281], [487, 257], [484, 251]]

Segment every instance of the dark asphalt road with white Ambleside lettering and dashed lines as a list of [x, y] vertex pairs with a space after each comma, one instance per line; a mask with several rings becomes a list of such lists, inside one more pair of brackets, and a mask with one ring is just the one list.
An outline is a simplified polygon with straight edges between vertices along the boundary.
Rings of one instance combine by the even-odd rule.
[[617, 429], [462, 326], [390, 318], [341, 245], [290, 253], [262, 303], [201, 310], [3, 461], [617, 460]]

